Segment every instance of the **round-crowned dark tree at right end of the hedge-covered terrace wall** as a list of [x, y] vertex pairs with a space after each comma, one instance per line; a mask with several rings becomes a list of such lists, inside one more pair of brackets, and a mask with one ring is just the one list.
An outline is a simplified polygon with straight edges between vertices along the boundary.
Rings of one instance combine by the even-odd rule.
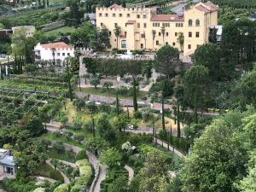
[[175, 69], [179, 62], [178, 49], [165, 45], [156, 52], [154, 68], [156, 72], [165, 74], [168, 79], [172, 79], [176, 74]]

